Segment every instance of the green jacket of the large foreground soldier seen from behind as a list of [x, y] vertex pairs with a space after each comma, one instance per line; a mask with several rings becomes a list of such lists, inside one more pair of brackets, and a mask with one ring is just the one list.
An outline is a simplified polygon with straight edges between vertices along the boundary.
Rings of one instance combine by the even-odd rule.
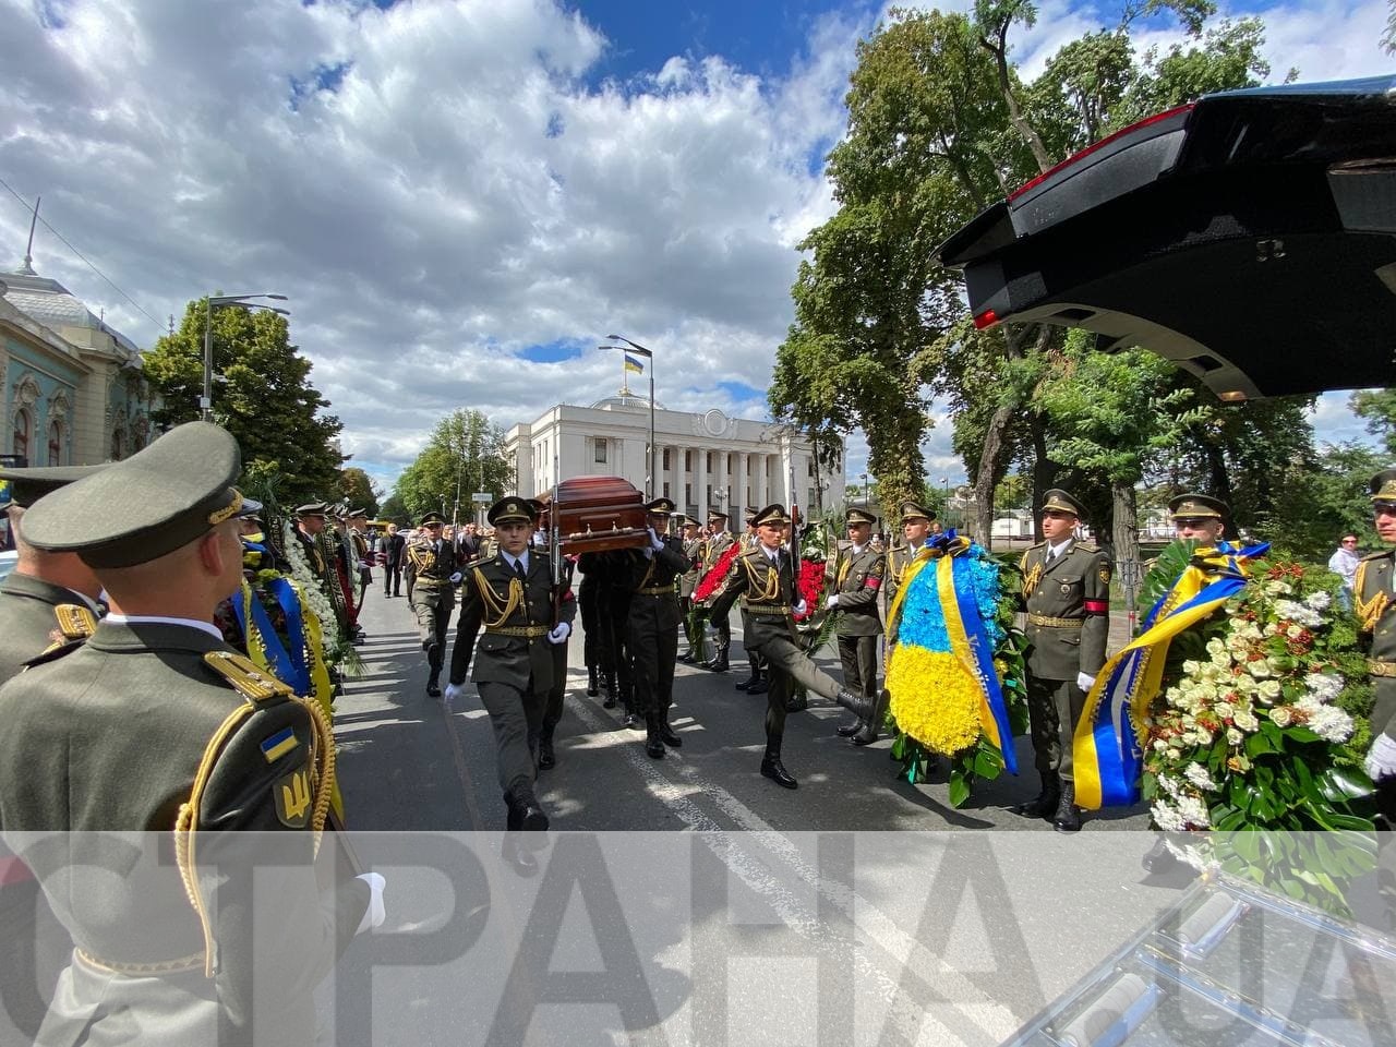
[[[248, 704], [205, 662], [209, 652], [232, 648], [193, 625], [103, 621], [82, 646], [0, 687], [0, 829], [91, 956], [169, 962], [204, 951], [169, 845], [209, 740]], [[131, 1029], [142, 1044], [204, 1041], [214, 1030], [244, 1041], [254, 995], [258, 1027], [314, 1041], [311, 991], [353, 937], [370, 891], [348, 875], [332, 888], [310, 864], [311, 740], [306, 706], [283, 697], [257, 702], [233, 730], [198, 810], [195, 861], [218, 970], [204, 980], [200, 960], [180, 976], [194, 993], [170, 1004], [159, 979], [75, 965], [54, 1008], [81, 1027], [101, 1004], [89, 1043]], [[70, 835], [57, 847], [28, 835], [43, 831]], [[116, 845], [116, 831], [144, 836]]]

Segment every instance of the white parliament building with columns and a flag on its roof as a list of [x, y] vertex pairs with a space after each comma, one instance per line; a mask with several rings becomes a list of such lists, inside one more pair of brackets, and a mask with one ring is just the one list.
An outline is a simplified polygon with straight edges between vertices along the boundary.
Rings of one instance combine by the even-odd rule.
[[[623, 388], [589, 408], [558, 403], [533, 422], [508, 431], [504, 455], [525, 498], [574, 476], [621, 476], [646, 489], [649, 473], [649, 399]], [[713, 408], [701, 415], [655, 403], [653, 496], [673, 498], [677, 511], [706, 519], [709, 508], [726, 512], [729, 528], [743, 529], [744, 511], [794, 500], [819, 512], [843, 501], [842, 465], [821, 469], [807, 440], [789, 426], [727, 417]]]

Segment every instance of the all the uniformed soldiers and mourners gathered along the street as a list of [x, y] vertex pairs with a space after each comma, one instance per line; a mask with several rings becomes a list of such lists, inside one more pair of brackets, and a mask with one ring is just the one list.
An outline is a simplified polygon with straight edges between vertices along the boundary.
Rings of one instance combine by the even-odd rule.
[[[796, 625], [814, 609], [801, 588], [803, 535], [780, 504], [751, 511], [738, 536], [719, 510], [699, 525], [655, 498], [641, 542], [574, 557], [550, 547], [544, 507], [518, 496], [490, 507], [483, 533], [473, 525], [451, 532], [438, 514], [406, 532], [389, 525], [373, 533], [363, 512], [310, 503], [296, 510], [288, 542], [233, 486], [240, 468], [225, 430], [190, 423], [110, 465], [0, 470], [13, 484], [20, 550], [0, 586], [0, 831], [32, 875], [21, 907], [42, 886], [77, 946], [46, 1032], [77, 1030], [81, 1039], [116, 1020], [113, 1001], [168, 1007], [174, 986], [179, 1018], [165, 1036], [172, 1043], [200, 1039], [191, 1027], [246, 1039], [254, 991], [278, 1041], [311, 1039], [309, 994], [278, 977], [286, 980], [289, 967], [324, 970], [384, 917], [383, 878], [310, 843], [335, 835], [339, 812], [329, 635], [362, 642], [357, 609], [374, 568], [384, 571], [388, 599], [405, 582], [429, 697], [459, 701], [466, 681], [475, 684], [496, 738], [505, 857], [526, 874], [550, 826], [535, 785], [557, 762], [567, 645], [578, 620], [588, 695], [623, 708], [624, 723], [644, 729], [645, 752], [662, 759], [683, 744], [670, 723], [677, 663], [730, 671], [729, 618], [740, 606], [750, 676], [738, 687], [766, 697], [759, 771], [796, 789], [785, 766], [786, 718], [814, 694], [852, 713], [839, 734], [874, 741], [888, 698], [878, 683], [878, 638], [896, 648], [906, 613], [899, 586], [913, 565], [958, 547], [952, 535], [933, 533], [935, 514], [914, 501], [900, 505], [900, 540], [891, 546], [874, 537], [871, 511], [847, 510], [846, 539], [828, 550], [818, 585], [821, 610], [833, 616], [832, 630], [818, 635], [836, 638], [839, 680], [814, 662], [808, 632]], [[1367, 769], [1389, 797], [1396, 469], [1372, 479], [1371, 503], [1388, 549], [1357, 558], [1350, 591], [1375, 690]], [[1223, 501], [1189, 493], [1170, 510], [1178, 537], [1220, 546]], [[1040, 792], [1015, 810], [1075, 832], [1072, 738], [1107, 662], [1114, 568], [1106, 550], [1079, 537], [1085, 510], [1072, 493], [1046, 491], [1039, 515], [1044, 540], [1022, 557], [1020, 609]], [[1346, 567], [1335, 570], [1346, 578]], [[251, 941], [237, 923], [250, 870], [207, 875], [186, 843], [195, 833], [247, 829], [307, 840], [297, 852], [303, 861], [278, 866], [276, 914], [295, 933], [269, 942]], [[102, 886], [73, 879], [74, 856], [24, 846], [28, 833], [46, 831], [173, 832], [176, 860], [140, 874], [120, 903], [94, 919], [84, 899]], [[348, 872], [325, 875], [327, 860], [348, 864]], [[25, 877], [4, 879], [11, 882], [0, 903], [13, 903], [13, 885]], [[152, 942], [151, 906], [186, 895], [186, 919]]]

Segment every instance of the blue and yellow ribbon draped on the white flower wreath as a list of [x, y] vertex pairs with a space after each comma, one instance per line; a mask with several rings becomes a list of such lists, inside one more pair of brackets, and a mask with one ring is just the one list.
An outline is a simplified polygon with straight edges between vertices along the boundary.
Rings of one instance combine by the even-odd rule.
[[1241, 592], [1249, 561], [1269, 550], [1269, 543], [1241, 549], [1226, 542], [1196, 550], [1145, 617], [1143, 632], [1096, 674], [1072, 738], [1081, 807], [1093, 811], [1139, 803], [1146, 719], [1159, 694], [1168, 645]]

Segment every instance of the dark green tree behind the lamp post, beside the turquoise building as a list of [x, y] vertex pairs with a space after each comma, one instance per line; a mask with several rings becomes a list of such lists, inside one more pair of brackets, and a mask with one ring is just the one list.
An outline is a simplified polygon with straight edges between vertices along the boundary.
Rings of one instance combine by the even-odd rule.
[[[179, 329], [144, 353], [145, 374], [163, 401], [152, 416], [156, 424], [200, 417], [204, 322], [205, 302], [190, 302]], [[242, 448], [243, 484], [282, 505], [329, 497], [343, 463], [343, 426], [321, 413], [329, 401], [310, 384], [311, 363], [290, 343], [286, 318], [239, 306], [216, 309], [212, 336], [214, 419]]]

